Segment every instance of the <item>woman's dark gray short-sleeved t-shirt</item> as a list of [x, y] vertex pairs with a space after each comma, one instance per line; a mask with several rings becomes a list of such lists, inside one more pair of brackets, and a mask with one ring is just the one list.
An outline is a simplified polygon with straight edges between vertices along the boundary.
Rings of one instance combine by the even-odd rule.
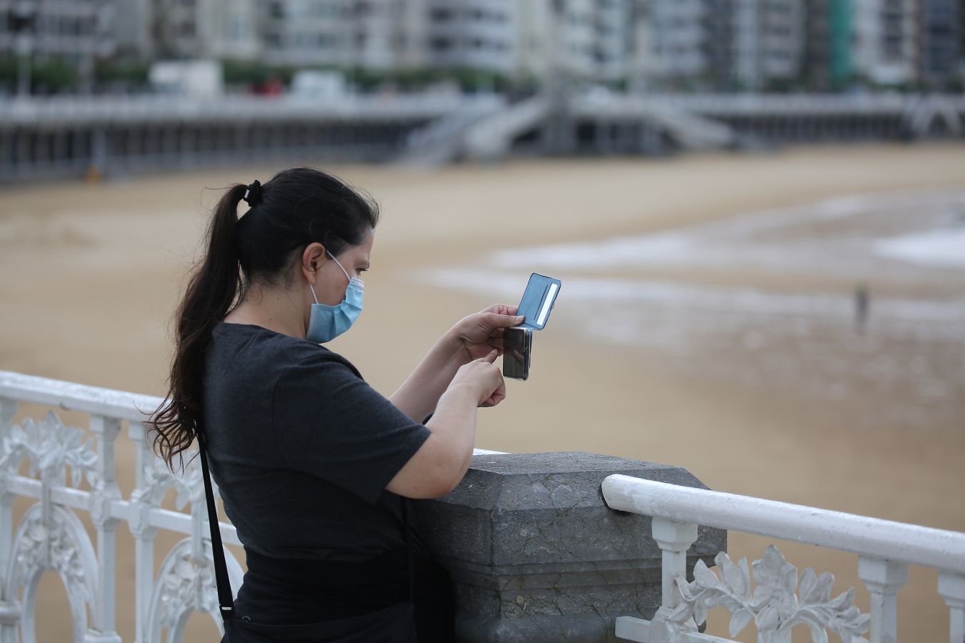
[[221, 323], [207, 350], [211, 476], [246, 548], [355, 561], [405, 545], [385, 486], [429, 432], [345, 358], [261, 326]]

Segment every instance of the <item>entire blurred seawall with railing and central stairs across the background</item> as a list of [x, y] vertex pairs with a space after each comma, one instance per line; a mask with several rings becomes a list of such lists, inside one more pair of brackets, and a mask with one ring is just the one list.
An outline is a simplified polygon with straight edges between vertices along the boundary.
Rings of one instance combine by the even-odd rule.
[[[665, 154], [961, 138], [957, 95], [64, 97], [0, 101], [0, 182], [311, 160]], [[480, 143], [483, 141], [483, 143]]]

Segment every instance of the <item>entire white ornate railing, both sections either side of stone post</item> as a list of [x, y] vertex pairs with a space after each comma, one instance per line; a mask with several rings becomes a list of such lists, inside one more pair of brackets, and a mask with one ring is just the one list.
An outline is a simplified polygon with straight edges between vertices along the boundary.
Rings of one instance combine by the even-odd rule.
[[[53, 410], [42, 420], [21, 418], [20, 403], [87, 413], [89, 433], [65, 425]], [[184, 474], [175, 476], [153, 455], [144, 422], [159, 404], [155, 397], [0, 371], [0, 643], [36, 641], [37, 591], [46, 571], [63, 579], [76, 643], [120, 643], [115, 539], [122, 522], [135, 541], [135, 640], [179, 642], [196, 611], [220, 629], [200, 465], [188, 456]], [[123, 423], [135, 449], [134, 489], [126, 496], [114, 457]], [[176, 510], [162, 507], [172, 489]], [[761, 643], [789, 643], [796, 625], [809, 626], [814, 641], [826, 641], [827, 630], [845, 643], [865, 641], [870, 629], [871, 641], [894, 642], [896, 595], [911, 564], [939, 571], [951, 643], [965, 643], [965, 534], [621, 475], [608, 477], [603, 493], [613, 509], [652, 517], [653, 538], [663, 550], [663, 604], [651, 621], [618, 619], [621, 638], [723, 643], [727, 639], [697, 630], [720, 606], [731, 612], [731, 636], [754, 621]], [[18, 496], [35, 503], [14, 525]], [[94, 525], [93, 540], [84, 514]], [[832, 599], [831, 574], [806, 570], [798, 577], [773, 546], [753, 565], [756, 587], [747, 561], [734, 564], [725, 552], [716, 558], [719, 573], [699, 562], [688, 581], [686, 551], [698, 524], [857, 553], [870, 613], [852, 604], [853, 589]], [[234, 527], [220, 526], [225, 543], [239, 545]], [[160, 530], [184, 538], [155, 573]], [[241, 566], [230, 550], [226, 555], [236, 590]]]

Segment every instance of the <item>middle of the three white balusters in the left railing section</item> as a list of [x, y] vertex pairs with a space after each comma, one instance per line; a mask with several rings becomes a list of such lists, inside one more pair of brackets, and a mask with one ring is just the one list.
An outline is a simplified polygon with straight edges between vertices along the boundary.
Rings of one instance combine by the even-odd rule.
[[93, 489], [91, 519], [97, 532], [97, 587], [96, 614], [93, 626], [102, 634], [98, 641], [117, 641], [114, 612], [117, 608], [117, 549], [115, 536], [119, 520], [111, 516], [111, 504], [121, 497], [114, 475], [114, 446], [121, 433], [121, 420], [103, 415], [91, 416], [91, 432], [97, 438], [97, 475], [100, 482]]

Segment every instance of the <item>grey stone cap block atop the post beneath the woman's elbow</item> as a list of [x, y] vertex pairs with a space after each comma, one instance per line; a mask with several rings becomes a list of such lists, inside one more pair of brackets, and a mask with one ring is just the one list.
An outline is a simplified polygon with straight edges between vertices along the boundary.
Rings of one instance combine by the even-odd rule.
[[[660, 557], [649, 517], [606, 506], [614, 473], [706, 489], [689, 471], [584, 452], [480, 455], [449, 495], [419, 503], [433, 551], [469, 566], [546, 565]], [[689, 553], [726, 549], [724, 532], [702, 529]]]

